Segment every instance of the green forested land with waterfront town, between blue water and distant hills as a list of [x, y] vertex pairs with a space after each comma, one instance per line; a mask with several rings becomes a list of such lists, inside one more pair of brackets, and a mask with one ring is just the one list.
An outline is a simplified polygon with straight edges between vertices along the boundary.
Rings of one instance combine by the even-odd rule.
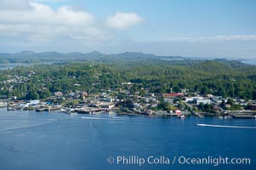
[[[0, 72], [7, 110], [255, 118], [255, 70], [225, 59], [67, 62]], [[233, 69], [233, 67], [238, 67]]]

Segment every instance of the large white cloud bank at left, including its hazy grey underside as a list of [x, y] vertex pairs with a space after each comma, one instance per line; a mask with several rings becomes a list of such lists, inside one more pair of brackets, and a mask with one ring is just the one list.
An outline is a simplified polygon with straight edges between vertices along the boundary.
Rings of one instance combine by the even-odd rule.
[[[62, 6], [54, 10], [43, 3], [0, 0], [0, 37], [21, 42], [61, 39], [102, 41], [110, 36], [93, 14]], [[19, 4], [19, 5], [18, 5]], [[26, 8], [25, 8], [26, 7]]]

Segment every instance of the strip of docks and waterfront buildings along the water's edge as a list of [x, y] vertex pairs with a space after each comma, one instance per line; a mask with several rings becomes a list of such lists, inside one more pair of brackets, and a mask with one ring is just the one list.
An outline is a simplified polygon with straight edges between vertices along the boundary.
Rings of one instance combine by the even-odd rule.
[[7, 111], [36, 111], [36, 112], [61, 112], [66, 114], [108, 114], [110, 111], [117, 112], [118, 116], [133, 116], [133, 115], [145, 115], [145, 116], [174, 116], [184, 119], [188, 116], [196, 116], [203, 118], [204, 116], [218, 116], [219, 119], [256, 119], [256, 113], [253, 111], [222, 111], [219, 114], [209, 114], [207, 112], [196, 111], [179, 111], [176, 109], [172, 112], [167, 111], [123, 111], [118, 108], [113, 102], [97, 102], [95, 104], [82, 104], [71, 106], [69, 108], [63, 105], [48, 105], [46, 102], [40, 102], [39, 100], [31, 101], [6, 101], [3, 100], [0, 103], [0, 108], [6, 108]]

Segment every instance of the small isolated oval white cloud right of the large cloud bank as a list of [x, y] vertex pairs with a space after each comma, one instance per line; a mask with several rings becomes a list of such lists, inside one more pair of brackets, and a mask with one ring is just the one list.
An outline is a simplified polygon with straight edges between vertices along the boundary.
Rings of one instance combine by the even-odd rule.
[[111, 29], [123, 30], [129, 26], [139, 25], [143, 19], [135, 13], [116, 13], [111, 15], [106, 20], [106, 26]]

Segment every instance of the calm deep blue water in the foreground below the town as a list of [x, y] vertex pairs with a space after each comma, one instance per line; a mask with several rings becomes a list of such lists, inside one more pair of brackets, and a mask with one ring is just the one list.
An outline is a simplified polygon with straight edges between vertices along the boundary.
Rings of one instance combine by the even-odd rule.
[[[256, 129], [199, 127], [197, 123], [253, 126], [219, 120], [5, 111], [0, 109], [1, 170], [256, 169]], [[119, 117], [116, 119], [108, 117]], [[123, 118], [120, 118], [123, 117]], [[113, 163], [106, 160], [114, 158]], [[169, 164], [117, 164], [117, 156], [165, 156]], [[250, 165], [181, 165], [174, 156], [247, 157]]]

